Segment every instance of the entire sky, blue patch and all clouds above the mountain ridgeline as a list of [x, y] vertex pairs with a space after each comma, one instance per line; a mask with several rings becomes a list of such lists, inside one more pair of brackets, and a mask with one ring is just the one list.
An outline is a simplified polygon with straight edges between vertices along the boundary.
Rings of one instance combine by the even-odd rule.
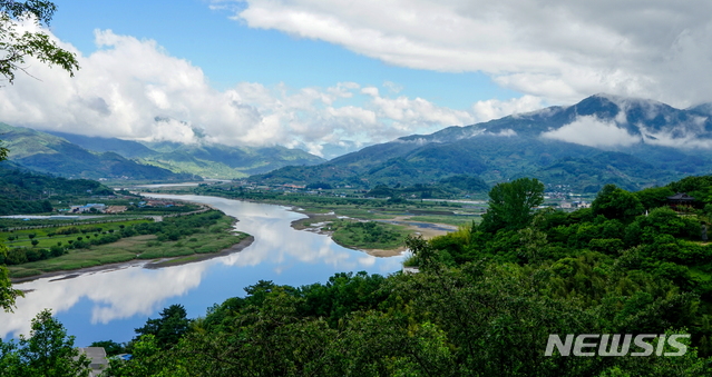
[[[57, 0], [75, 78], [29, 62], [2, 121], [325, 157], [598, 92], [712, 99], [712, 3]], [[198, 130], [199, 129], [199, 130]]]

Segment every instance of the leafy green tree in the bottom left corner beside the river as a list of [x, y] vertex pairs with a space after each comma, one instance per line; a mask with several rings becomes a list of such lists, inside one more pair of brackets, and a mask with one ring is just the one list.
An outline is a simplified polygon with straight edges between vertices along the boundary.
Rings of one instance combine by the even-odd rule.
[[0, 370], [13, 377], [89, 376], [91, 361], [74, 343], [51, 311], [42, 310], [32, 319], [29, 338], [20, 336], [18, 344], [0, 340]]

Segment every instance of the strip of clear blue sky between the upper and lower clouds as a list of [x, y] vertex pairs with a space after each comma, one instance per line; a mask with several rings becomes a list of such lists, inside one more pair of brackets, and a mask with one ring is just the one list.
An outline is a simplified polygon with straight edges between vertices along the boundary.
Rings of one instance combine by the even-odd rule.
[[440, 106], [468, 109], [482, 99], [520, 97], [481, 72], [440, 72], [384, 63], [320, 40], [275, 30], [252, 29], [231, 20], [232, 12], [211, 9], [201, 0], [56, 1], [57, 37], [88, 54], [96, 50], [95, 29], [153, 39], [168, 53], [201, 67], [217, 89], [241, 81], [291, 88], [331, 87], [353, 81], [402, 87], [401, 95]]

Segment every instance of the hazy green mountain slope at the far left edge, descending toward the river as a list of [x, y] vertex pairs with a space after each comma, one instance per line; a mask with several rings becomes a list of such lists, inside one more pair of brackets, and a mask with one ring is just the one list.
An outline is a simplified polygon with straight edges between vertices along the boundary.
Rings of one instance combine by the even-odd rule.
[[22, 167], [66, 178], [187, 180], [189, 175], [138, 163], [115, 152], [92, 152], [66, 139], [29, 128], [0, 123], [8, 159]]

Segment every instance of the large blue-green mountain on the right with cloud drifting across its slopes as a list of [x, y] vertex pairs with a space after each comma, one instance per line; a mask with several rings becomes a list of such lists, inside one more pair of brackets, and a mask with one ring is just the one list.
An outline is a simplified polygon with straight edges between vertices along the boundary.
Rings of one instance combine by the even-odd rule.
[[314, 167], [287, 167], [256, 182], [414, 185], [453, 175], [489, 185], [534, 177], [596, 192], [612, 182], [635, 190], [712, 171], [712, 106], [680, 110], [662, 102], [596, 95], [431, 135], [363, 148]]

